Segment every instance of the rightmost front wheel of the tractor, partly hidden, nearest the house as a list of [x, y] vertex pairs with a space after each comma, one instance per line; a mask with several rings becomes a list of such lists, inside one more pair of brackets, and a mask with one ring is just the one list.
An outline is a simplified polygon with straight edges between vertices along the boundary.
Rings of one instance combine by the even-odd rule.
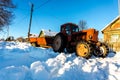
[[109, 48], [106, 44], [101, 43], [101, 45], [99, 46], [99, 50], [94, 52], [94, 55], [97, 57], [106, 57], [109, 53]]

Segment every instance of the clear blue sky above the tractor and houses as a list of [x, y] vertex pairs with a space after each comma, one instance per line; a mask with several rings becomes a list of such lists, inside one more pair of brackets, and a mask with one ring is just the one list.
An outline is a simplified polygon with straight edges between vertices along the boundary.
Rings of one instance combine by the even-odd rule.
[[[46, 2], [47, 1], [47, 2]], [[101, 30], [118, 16], [118, 0], [13, 0], [17, 5], [15, 19], [9, 26], [11, 36], [26, 37], [30, 18], [30, 3], [34, 4], [31, 33], [41, 29], [59, 32], [66, 22], [87, 22], [88, 28]], [[100, 32], [100, 36], [101, 32]]]

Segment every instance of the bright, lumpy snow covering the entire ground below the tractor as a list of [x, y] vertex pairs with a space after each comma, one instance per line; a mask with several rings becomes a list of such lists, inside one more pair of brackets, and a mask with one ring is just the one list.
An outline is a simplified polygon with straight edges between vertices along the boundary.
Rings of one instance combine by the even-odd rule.
[[120, 80], [120, 52], [86, 60], [75, 53], [0, 42], [0, 80]]

